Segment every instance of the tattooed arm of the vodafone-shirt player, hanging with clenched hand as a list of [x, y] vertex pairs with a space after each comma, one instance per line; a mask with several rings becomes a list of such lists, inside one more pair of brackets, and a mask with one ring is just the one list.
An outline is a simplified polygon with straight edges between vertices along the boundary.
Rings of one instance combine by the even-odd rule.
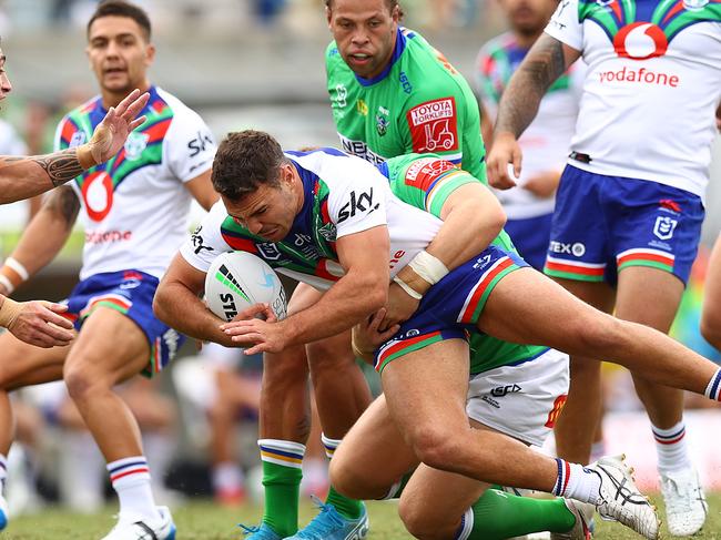
[[488, 155], [488, 181], [494, 187], [516, 185], [508, 174], [508, 164], [512, 163], [518, 177], [521, 152], [517, 139], [536, 116], [546, 91], [579, 57], [579, 51], [547, 33], [542, 33], [528, 51], [500, 100], [494, 144]]

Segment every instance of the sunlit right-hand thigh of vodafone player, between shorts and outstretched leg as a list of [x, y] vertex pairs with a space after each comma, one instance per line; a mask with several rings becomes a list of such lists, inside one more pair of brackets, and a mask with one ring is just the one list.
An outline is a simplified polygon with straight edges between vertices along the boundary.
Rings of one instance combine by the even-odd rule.
[[670, 272], [630, 266], [619, 273], [616, 316], [668, 333], [683, 295], [683, 282]]

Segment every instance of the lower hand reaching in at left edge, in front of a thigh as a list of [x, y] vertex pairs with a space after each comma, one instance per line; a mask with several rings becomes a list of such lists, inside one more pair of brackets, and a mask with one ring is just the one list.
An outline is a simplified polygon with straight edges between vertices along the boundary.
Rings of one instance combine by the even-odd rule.
[[[8, 299], [6, 299], [8, 302]], [[18, 313], [8, 330], [18, 339], [42, 348], [63, 347], [74, 337], [72, 323], [59, 314], [68, 306], [32, 300], [17, 304]]]

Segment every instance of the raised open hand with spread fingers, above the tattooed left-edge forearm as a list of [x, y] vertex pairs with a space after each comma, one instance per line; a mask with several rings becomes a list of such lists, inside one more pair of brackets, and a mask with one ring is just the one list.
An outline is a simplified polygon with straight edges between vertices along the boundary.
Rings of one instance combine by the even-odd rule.
[[135, 116], [143, 110], [149, 99], [148, 92], [141, 94], [140, 90], [135, 89], [118, 106], [110, 108], [88, 143], [97, 164], [110, 160], [120, 152], [128, 135], [145, 122], [144, 115], [138, 119]]

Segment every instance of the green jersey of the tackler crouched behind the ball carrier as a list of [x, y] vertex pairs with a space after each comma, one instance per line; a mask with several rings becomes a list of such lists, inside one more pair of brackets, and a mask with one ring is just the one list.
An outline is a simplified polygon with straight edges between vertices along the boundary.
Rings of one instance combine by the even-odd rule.
[[[435, 154], [408, 154], [378, 165], [390, 182], [390, 191], [403, 202], [425, 210], [440, 218], [440, 208], [448, 196], [461, 185], [478, 182], [465, 171]], [[506, 252], [516, 248], [506, 232], [492, 242]], [[532, 360], [548, 350], [537, 345], [518, 345], [485, 334], [470, 335], [470, 373], [479, 374], [499, 366]]]

